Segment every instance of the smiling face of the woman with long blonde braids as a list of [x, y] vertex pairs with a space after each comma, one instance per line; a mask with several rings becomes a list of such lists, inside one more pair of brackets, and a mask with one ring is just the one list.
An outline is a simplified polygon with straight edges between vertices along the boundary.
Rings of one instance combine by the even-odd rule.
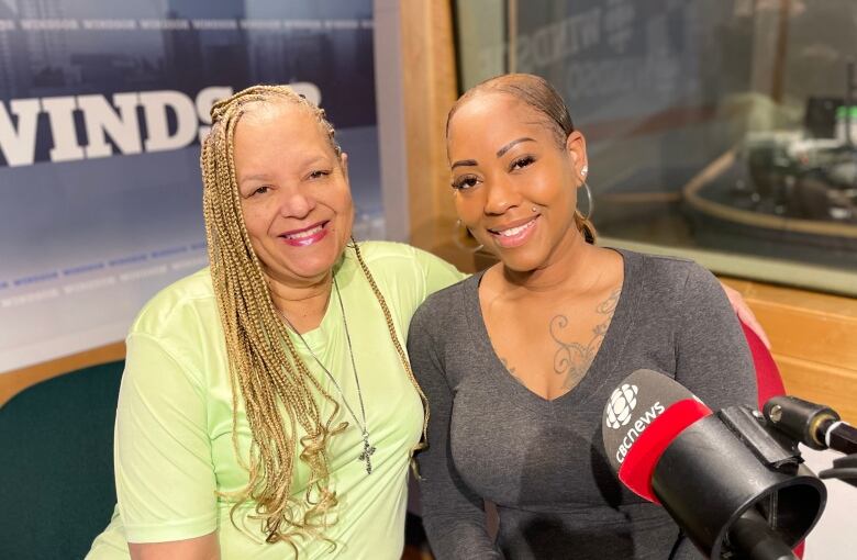
[[235, 125], [244, 223], [266, 273], [289, 285], [321, 281], [352, 234], [347, 156], [319, 120], [288, 101], [254, 103]]

